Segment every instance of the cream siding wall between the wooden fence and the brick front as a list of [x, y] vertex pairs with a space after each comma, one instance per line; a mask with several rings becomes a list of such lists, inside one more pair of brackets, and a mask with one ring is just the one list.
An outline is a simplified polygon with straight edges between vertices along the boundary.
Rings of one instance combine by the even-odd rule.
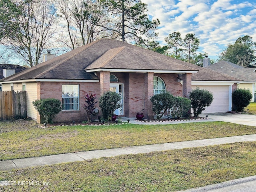
[[27, 116], [37, 120], [37, 110], [34, 108], [32, 101], [37, 99], [37, 83], [26, 83], [27, 91]]

